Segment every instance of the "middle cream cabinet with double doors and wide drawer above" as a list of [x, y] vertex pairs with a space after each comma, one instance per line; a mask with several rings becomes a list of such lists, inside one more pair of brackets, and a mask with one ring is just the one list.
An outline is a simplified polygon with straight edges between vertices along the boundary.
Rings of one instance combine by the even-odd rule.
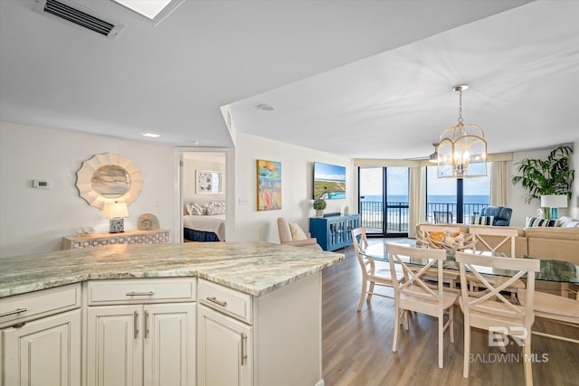
[[87, 385], [195, 385], [195, 278], [90, 281], [87, 297]]

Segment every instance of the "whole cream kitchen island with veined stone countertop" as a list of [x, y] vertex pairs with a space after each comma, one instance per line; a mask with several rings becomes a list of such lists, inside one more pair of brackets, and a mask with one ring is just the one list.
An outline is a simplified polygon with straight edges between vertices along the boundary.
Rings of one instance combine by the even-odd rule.
[[342, 259], [264, 242], [0, 258], [3, 381], [322, 385], [321, 271]]

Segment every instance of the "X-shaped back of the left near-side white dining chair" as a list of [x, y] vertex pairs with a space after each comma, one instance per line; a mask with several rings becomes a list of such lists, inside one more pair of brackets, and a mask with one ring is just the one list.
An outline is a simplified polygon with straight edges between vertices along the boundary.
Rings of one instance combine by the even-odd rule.
[[[394, 264], [399, 264], [403, 269], [403, 282], [399, 281], [395, 275], [392, 278], [394, 284], [394, 297], [396, 302], [400, 301], [400, 297], [408, 295], [411, 297], [420, 298], [425, 302], [433, 302], [438, 306], [443, 303], [443, 276], [442, 276], [442, 261], [446, 260], [445, 249], [425, 249], [408, 247], [401, 244], [386, 243], [386, 251], [388, 252], [388, 262], [390, 263], [390, 271], [395, 271]], [[404, 262], [404, 257], [412, 259], [429, 259], [430, 261], [421, 267], [417, 272], [408, 267]], [[432, 266], [436, 264], [438, 285], [434, 287], [431, 283], [426, 282], [426, 277], [432, 279]]]

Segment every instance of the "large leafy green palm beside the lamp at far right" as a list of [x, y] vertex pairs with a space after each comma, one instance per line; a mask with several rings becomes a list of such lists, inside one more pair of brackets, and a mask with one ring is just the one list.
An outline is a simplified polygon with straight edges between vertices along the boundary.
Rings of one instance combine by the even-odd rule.
[[[520, 183], [527, 190], [525, 202], [541, 200], [541, 196], [546, 194], [565, 194], [568, 199], [571, 198], [575, 173], [570, 168], [571, 154], [571, 146], [560, 145], [549, 153], [546, 160], [525, 158], [517, 163], [520, 175], [513, 176], [512, 183]], [[548, 209], [543, 210], [548, 218]]]

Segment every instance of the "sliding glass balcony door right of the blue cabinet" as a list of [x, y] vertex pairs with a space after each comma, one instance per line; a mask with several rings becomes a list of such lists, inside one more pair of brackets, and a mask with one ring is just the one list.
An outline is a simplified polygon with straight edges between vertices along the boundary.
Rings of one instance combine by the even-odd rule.
[[408, 167], [358, 168], [358, 211], [368, 235], [408, 235], [409, 186]]

